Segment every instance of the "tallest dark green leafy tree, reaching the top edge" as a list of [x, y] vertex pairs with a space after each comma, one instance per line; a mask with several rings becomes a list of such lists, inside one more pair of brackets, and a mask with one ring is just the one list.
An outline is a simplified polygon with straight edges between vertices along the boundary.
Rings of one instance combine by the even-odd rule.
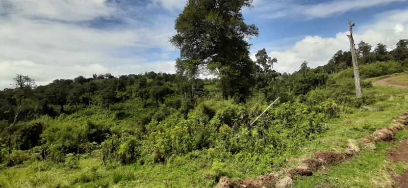
[[198, 67], [216, 73], [224, 98], [249, 94], [253, 82], [250, 44], [258, 28], [244, 22], [241, 10], [252, 0], [189, 0], [175, 20], [177, 34], [170, 38], [180, 58], [177, 70], [197, 75]]

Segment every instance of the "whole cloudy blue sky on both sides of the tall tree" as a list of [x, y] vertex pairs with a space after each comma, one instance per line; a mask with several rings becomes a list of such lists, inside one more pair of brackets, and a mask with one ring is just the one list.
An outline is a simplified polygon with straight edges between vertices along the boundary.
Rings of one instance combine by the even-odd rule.
[[[92, 73], [174, 73], [179, 56], [168, 37], [185, 0], [0, 0], [0, 89], [16, 73], [38, 85]], [[324, 65], [349, 50], [347, 20], [355, 41], [389, 48], [408, 38], [406, 0], [254, 0], [244, 9], [260, 36], [254, 53], [266, 48], [274, 68], [293, 72], [303, 61]]]

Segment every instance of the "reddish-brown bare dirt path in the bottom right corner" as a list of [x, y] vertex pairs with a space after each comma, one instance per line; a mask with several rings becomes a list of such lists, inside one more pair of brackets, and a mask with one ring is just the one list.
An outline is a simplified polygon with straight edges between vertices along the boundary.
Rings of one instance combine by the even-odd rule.
[[[408, 162], [408, 141], [400, 141], [400, 146], [390, 151], [387, 156], [396, 163]], [[408, 188], [408, 171], [402, 175], [393, 175], [392, 179], [398, 183], [398, 185], [394, 187]]]

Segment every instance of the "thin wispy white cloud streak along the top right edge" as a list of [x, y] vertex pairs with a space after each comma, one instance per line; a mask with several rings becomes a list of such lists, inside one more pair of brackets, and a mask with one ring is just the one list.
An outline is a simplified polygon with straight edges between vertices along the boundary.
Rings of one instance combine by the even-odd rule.
[[[261, 1], [261, 0], [259, 0]], [[260, 2], [257, 2], [259, 5]], [[343, 14], [347, 11], [359, 10], [373, 6], [381, 6], [392, 2], [405, 2], [406, 0], [345, 0], [331, 1], [317, 5], [299, 5], [294, 4], [291, 0], [273, 0], [265, 1], [264, 5], [257, 6], [261, 17], [279, 18], [301, 16], [306, 19], [324, 18], [336, 14]]]

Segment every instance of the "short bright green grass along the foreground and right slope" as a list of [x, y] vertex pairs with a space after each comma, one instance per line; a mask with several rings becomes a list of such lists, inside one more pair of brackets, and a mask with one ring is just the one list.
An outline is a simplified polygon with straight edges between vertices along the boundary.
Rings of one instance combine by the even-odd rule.
[[[408, 77], [408, 76], [407, 76]], [[405, 82], [407, 78], [398, 82]], [[371, 78], [374, 80], [376, 78]], [[211, 88], [207, 88], [211, 89]], [[212, 158], [212, 149], [193, 151], [187, 155], [173, 156], [167, 163], [155, 165], [128, 165], [117, 163], [103, 165], [98, 153], [81, 155], [78, 168], [68, 169], [63, 164], [50, 162], [27, 162], [0, 171], [0, 187], [214, 187], [219, 176], [256, 178], [270, 172], [278, 172], [301, 163], [304, 158], [314, 157], [320, 150], [344, 152], [348, 140], [358, 140], [370, 135], [376, 127], [387, 127], [408, 110], [408, 89], [374, 86], [363, 90], [373, 96], [376, 103], [360, 109], [341, 107], [340, 117], [325, 122], [329, 130], [319, 138], [304, 143], [296, 152], [282, 153], [287, 158], [283, 165], [260, 167], [256, 156], [219, 155]], [[407, 139], [408, 131], [398, 133], [398, 139]], [[350, 162], [329, 166], [327, 171], [309, 177], [294, 179], [296, 187], [382, 187], [392, 184], [387, 169], [402, 173], [406, 164], [396, 164], [385, 156], [397, 142], [379, 143], [377, 149], [363, 151]], [[249, 154], [248, 154], [249, 155]], [[215, 159], [219, 158], [219, 160]], [[324, 175], [326, 173], [326, 175]], [[338, 180], [336, 180], [338, 178]]]

